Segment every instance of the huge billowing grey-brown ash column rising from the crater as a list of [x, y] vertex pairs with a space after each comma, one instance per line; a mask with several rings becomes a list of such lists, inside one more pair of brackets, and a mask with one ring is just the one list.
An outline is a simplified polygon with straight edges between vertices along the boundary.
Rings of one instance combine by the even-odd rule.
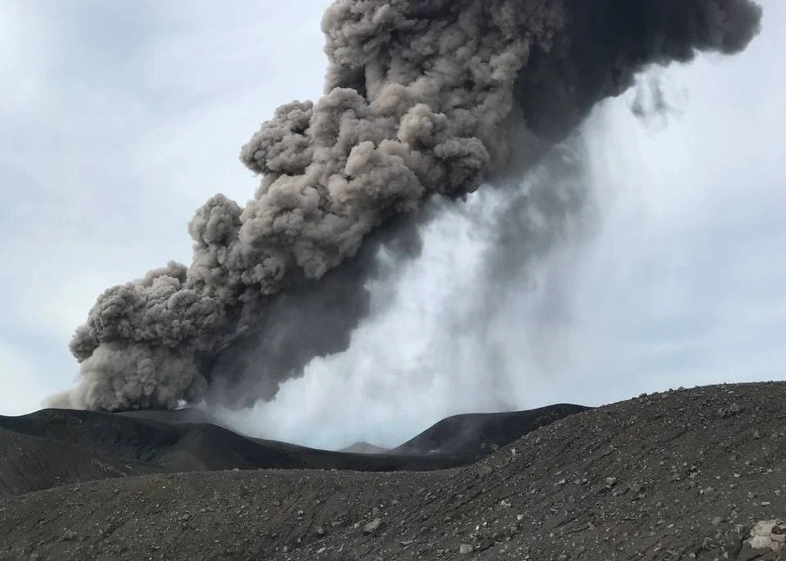
[[[760, 19], [751, 0], [338, 0], [325, 96], [281, 106], [242, 148], [255, 198], [212, 197], [190, 266], [101, 295], [71, 343], [79, 386], [53, 403], [272, 398], [347, 347], [369, 279], [417, 255], [413, 211], [520, 174], [648, 64], [736, 53]], [[545, 220], [569, 211], [541, 203]]]

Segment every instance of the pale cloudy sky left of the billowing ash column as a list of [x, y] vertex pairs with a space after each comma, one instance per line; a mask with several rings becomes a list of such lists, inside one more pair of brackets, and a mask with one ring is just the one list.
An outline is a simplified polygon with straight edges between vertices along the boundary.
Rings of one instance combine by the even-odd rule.
[[[299, 42], [312, 51], [311, 66], [285, 80], [288, 59], [270, 57], [260, 35], [288, 39], [283, 23], [296, 8], [243, 6], [0, 6], [0, 27], [13, 31], [0, 34], [2, 82], [16, 88], [20, 76], [35, 78], [31, 95], [14, 94], [24, 112], [3, 105], [13, 115], [3, 117], [0, 140], [9, 203], [0, 209], [0, 259], [14, 265], [0, 279], [3, 328], [52, 338], [59, 348], [43, 352], [67, 355], [105, 288], [189, 260], [186, 224], [208, 196], [252, 196], [258, 180], [238, 162], [241, 145], [293, 84], [302, 97], [319, 93], [325, 60], [312, 16]], [[70, 384], [75, 363], [59, 369]]]

